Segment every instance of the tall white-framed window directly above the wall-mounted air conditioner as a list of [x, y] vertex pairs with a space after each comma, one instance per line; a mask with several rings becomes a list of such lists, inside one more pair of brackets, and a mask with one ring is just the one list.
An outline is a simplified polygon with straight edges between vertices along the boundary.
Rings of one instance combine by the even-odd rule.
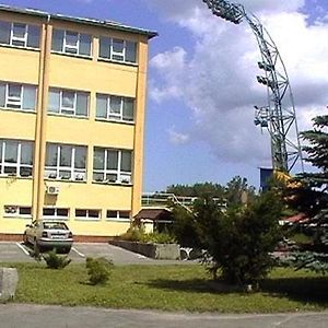
[[86, 147], [47, 143], [45, 177], [84, 181], [86, 179]]

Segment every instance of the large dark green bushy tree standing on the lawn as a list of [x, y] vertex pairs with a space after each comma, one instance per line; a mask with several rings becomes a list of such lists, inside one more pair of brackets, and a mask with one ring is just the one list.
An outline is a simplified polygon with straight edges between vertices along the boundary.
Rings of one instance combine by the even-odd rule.
[[267, 276], [273, 266], [270, 253], [280, 239], [279, 218], [281, 198], [266, 191], [247, 207], [232, 207], [216, 215], [197, 208], [202, 230], [202, 243], [212, 257], [213, 269], [220, 269], [222, 278], [230, 283], [256, 283]]

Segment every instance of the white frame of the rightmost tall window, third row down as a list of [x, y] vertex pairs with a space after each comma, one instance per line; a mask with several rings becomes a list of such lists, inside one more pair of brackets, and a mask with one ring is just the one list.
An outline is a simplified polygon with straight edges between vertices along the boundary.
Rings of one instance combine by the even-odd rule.
[[[107, 149], [107, 148], [101, 148], [101, 147], [96, 147], [96, 148], [105, 150], [105, 159], [104, 159], [105, 168], [104, 169], [93, 168], [93, 174], [103, 174], [103, 176], [104, 176], [103, 180], [98, 181], [98, 180], [93, 179], [93, 181], [95, 181], [95, 183], [107, 183], [107, 184], [132, 185], [132, 163], [131, 163], [131, 172], [126, 172], [126, 171], [120, 169], [122, 151], [131, 152], [131, 160], [132, 160], [132, 151], [130, 151], [130, 150], [118, 150], [118, 149]], [[108, 156], [108, 152], [110, 152], [110, 151], [117, 151], [118, 152], [118, 154], [117, 154], [117, 169], [107, 168], [107, 156]], [[116, 175], [116, 180], [110, 181], [110, 180], [106, 179], [107, 175]]]

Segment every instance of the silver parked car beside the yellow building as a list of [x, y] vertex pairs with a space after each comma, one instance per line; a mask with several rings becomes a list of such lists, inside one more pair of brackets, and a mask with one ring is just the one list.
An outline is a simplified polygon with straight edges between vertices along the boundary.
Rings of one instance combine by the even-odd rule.
[[39, 251], [56, 249], [58, 253], [69, 253], [73, 234], [65, 222], [37, 220], [26, 225], [23, 242]]

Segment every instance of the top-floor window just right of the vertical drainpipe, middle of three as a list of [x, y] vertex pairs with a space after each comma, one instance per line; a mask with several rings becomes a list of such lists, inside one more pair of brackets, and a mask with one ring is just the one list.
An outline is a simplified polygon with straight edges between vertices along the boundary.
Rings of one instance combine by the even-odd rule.
[[91, 35], [73, 31], [52, 31], [52, 51], [91, 56]]

